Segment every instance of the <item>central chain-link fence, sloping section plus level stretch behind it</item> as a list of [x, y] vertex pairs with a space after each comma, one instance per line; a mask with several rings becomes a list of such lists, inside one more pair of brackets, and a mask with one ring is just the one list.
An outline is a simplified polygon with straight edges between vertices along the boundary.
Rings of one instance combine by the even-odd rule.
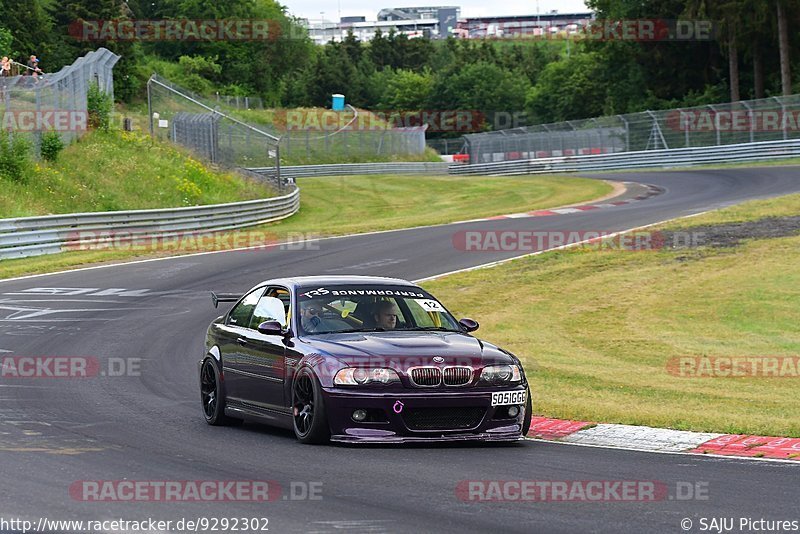
[[[220, 110], [214, 99], [187, 91], [158, 75], [147, 84], [150, 131], [230, 167], [271, 168], [318, 163], [392, 161], [425, 152], [425, 127], [395, 128], [369, 112], [350, 107], [275, 110], [245, 122]], [[340, 124], [341, 123], [341, 124]], [[333, 124], [333, 127], [330, 125]]]

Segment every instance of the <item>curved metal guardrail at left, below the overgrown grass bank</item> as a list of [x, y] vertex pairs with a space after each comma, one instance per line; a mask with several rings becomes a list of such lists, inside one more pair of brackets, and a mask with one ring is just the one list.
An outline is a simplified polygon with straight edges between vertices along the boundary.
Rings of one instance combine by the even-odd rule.
[[229, 204], [0, 219], [0, 259], [233, 230], [285, 219], [299, 208], [293, 186], [282, 196]]

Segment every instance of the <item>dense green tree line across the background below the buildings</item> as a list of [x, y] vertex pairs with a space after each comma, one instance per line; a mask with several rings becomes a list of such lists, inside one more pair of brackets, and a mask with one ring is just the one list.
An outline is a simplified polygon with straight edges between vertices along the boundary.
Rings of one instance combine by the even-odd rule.
[[[524, 111], [530, 124], [791, 94], [800, 0], [587, 0], [599, 20], [711, 20], [709, 40], [429, 40], [378, 33], [316, 46], [273, 0], [0, 0], [4, 55], [54, 71], [96, 48], [121, 54], [115, 92], [143, 96], [153, 70], [270, 106], [329, 106], [343, 93], [378, 110]], [[79, 41], [76, 20], [269, 19], [266, 41]]]

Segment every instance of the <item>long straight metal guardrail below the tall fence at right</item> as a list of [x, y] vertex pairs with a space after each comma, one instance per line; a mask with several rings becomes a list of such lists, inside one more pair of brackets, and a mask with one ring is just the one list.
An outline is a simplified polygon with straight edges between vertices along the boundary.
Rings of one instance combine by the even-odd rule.
[[643, 150], [560, 158], [451, 165], [450, 174], [517, 175], [550, 172], [605, 171], [653, 167], [689, 167], [719, 163], [757, 162], [800, 157], [800, 139], [737, 145]]

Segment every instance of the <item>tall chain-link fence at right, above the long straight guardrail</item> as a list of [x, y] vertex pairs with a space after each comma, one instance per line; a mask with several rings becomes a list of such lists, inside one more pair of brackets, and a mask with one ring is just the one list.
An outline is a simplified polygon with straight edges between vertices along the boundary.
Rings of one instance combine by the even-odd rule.
[[464, 136], [470, 163], [800, 138], [800, 95], [643, 111]]

